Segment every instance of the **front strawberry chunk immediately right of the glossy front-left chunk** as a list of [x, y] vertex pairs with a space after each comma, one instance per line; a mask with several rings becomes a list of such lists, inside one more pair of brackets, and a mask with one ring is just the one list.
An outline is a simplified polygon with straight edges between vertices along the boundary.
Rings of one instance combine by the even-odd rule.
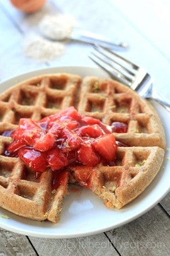
[[47, 152], [47, 162], [52, 170], [59, 170], [69, 164], [67, 156], [57, 148], [51, 149]]

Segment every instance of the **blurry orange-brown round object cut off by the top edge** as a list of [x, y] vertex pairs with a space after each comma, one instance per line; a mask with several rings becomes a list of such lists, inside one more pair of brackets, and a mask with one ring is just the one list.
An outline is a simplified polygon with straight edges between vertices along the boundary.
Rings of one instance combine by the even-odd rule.
[[11, 0], [11, 4], [25, 13], [34, 13], [45, 4], [46, 0]]

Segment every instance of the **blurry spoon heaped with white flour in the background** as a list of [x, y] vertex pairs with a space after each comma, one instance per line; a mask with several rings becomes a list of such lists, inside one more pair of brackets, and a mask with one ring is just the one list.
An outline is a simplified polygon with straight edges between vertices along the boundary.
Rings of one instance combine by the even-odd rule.
[[124, 42], [113, 42], [96, 33], [81, 30], [76, 20], [68, 15], [45, 16], [39, 23], [40, 32], [50, 40], [73, 40], [91, 45], [101, 45], [113, 50], [127, 50]]

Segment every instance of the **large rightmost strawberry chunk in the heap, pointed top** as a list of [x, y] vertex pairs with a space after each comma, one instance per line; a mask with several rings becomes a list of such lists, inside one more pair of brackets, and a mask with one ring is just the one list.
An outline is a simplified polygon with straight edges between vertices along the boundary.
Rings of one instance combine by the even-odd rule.
[[107, 161], [115, 160], [116, 156], [116, 141], [113, 134], [105, 134], [93, 142], [93, 147], [99, 156], [105, 158]]

